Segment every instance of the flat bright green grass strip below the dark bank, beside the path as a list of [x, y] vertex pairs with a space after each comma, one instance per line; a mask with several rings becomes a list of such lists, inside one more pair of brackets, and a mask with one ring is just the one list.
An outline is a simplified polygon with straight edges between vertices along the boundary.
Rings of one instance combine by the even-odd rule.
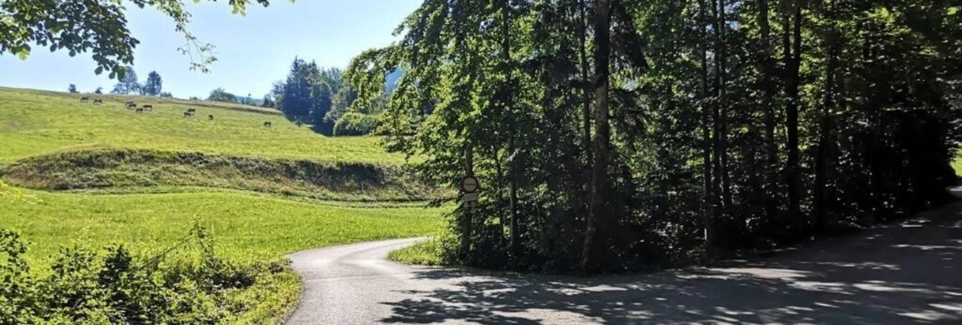
[[0, 203], [0, 228], [32, 242], [28, 257], [47, 263], [61, 245], [124, 243], [153, 252], [175, 244], [199, 222], [218, 254], [238, 262], [272, 261], [314, 247], [432, 234], [439, 208], [347, 208], [238, 192], [88, 195], [24, 190], [36, 204]]

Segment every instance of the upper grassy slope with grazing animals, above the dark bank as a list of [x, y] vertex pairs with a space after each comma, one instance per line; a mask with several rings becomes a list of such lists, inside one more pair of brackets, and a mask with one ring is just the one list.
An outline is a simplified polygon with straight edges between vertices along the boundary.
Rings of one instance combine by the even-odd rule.
[[[103, 105], [80, 103], [95, 96]], [[124, 109], [152, 104], [142, 114]], [[197, 108], [194, 117], [183, 112]], [[208, 120], [213, 114], [214, 120]], [[263, 123], [271, 121], [272, 127]], [[139, 96], [82, 95], [0, 87], [0, 163], [56, 151], [97, 147], [204, 151], [267, 158], [339, 162], [403, 162], [377, 137], [323, 137], [280, 113], [240, 104]]]

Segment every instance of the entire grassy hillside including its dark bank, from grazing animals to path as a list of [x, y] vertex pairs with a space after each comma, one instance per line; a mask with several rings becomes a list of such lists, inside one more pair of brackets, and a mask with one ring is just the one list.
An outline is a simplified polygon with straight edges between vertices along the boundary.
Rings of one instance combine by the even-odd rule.
[[[128, 100], [155, 110], [126, 110]], [[197, 114], [184, 117], [188, 108]], [[424, 202], [443, 192], [401, 162], [376, 137], [323, 137], [269, 109], [0, 87], [0, 179], [33, 197], [0, 197], [0, 229], [31, 242], [38, 270], [76, 242], [154, 256], [194, 223], [236, 263], [433, 234], [446, 208]], [[258, 279], [228, 300], [243, 302], [237, 319], [273, 323], [296, 305], [299, 280], [290, 270]]]

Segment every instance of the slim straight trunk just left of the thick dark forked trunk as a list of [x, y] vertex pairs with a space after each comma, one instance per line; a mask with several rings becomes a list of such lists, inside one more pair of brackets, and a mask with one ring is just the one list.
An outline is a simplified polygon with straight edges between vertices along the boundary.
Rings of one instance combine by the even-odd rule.
[[765, 122], [765, 189], [769, 196], [765, 198], [765, 214], [769, 221], [774, 220], [778, 213], [777, 177], [775, 170], [778, 163], [775, 144], [775, 114], [772, 107], [775, 88], [774, 63], [772, 62], [772, 28], [769, 24], [769, 1], [759, 0], [758, 25], [762, 38], [762, 113]]

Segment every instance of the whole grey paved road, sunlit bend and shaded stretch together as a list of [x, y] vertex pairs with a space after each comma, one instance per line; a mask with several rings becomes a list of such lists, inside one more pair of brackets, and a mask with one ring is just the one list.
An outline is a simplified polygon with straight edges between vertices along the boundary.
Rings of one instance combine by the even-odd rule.
[[417, 240], [291, 255], [288, 324], [962, 324], [962, 204], [777, 258], [589, 279], [384, 260]]

